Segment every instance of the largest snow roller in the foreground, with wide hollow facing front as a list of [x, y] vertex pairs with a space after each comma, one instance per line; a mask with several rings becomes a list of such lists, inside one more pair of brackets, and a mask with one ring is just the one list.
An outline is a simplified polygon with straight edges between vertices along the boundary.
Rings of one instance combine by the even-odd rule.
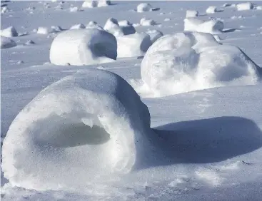
[[123, 78], [78, 71], [46, 87], [16, 116], [1, 168], [19, 187], [79, 190], [129, 172], [148, 145], [149, 129], [148, 108]]

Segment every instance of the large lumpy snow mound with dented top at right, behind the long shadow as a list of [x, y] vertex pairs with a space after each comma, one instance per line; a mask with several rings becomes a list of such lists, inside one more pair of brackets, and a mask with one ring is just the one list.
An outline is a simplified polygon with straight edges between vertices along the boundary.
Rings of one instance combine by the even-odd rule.
[[141, 63], [141, 78], [154, 96], [217, 86], [255, 84], [258, 66], [240, 48], [222, 45], [209, 33], [159, 38]]

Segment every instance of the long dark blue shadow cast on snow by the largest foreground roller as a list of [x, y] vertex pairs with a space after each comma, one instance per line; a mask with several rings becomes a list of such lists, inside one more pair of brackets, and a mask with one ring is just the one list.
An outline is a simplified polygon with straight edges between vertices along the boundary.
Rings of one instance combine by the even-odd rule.
[[240, 117], [169, 123], [153, 130], [159, 139], [156, 149], [164, 159], [151, 161], [148, 164], [151, 167], [174, 163], [216, 163], [262, 146], [262, 132], [256, 123]]

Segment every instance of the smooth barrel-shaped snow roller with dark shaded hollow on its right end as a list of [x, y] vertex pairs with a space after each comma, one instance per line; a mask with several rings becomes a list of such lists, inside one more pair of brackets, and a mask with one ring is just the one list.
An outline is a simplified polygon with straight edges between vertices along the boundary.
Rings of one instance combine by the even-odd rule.
[[56, 65], [110, 62], [117, 56], [116, 38], [99, 29], [73, 29], [59, 33], [51, 43], [50, 61]]

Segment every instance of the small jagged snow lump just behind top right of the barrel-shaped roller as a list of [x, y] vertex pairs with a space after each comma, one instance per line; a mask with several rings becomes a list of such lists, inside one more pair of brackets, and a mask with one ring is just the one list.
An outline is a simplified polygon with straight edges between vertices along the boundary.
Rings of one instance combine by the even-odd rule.
[[114, 36], [124, 36], [136, 33], [136, 29], [131, 24], [124, 24], [122, 26], [119, 26], [119, 22], [117, 21], [117, 19], [114, 18], [109, 18], [106, 21], [104, 30], [112, 33]]

